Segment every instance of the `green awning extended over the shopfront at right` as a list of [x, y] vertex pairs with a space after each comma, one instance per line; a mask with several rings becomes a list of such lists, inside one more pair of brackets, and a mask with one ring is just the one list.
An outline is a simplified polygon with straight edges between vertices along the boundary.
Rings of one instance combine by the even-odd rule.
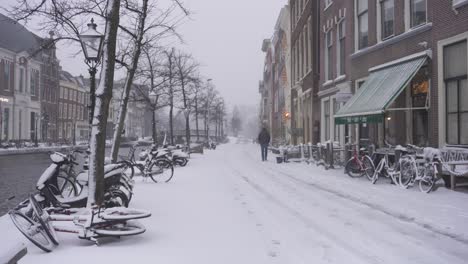
[[385, 109], [401, 94], [426, 62], [427, 55], [371, 69], [369, 78], [335, 114], [335, 124], [383, 121]]

